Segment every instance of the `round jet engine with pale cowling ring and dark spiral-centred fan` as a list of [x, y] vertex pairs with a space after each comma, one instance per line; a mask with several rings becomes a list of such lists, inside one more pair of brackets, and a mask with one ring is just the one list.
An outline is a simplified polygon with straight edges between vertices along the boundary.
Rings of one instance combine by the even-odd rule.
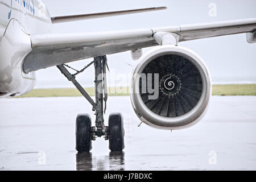
[[159, 46], [143, 55], [135, 67], [130, 97], [141, 121], [175, 130], [203, 117], [211, 90], [209, 71], [201, 57], [187, 48]]

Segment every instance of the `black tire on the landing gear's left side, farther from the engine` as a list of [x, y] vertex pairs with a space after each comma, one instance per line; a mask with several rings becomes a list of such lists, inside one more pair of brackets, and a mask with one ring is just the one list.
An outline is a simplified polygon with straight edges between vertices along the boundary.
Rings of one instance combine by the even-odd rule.
[[76, 150], [89, 152], [92, 150], [91, 126], [89, 114], [79, 114], [76, 117]]

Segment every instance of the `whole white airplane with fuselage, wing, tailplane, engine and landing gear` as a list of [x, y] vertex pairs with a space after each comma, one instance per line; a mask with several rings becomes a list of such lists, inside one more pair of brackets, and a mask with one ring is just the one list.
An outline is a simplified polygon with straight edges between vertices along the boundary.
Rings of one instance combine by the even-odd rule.
[[[106, 101], [106, 55], [131, 51], [137, 60], [130, 86], [130, 99], [138, 118], [158, 129], [184, 129], [199, 122], [209, 106], [210, 73], [197, 53], [177, 44], [187, 40], [246, 33], [256, 42], [256, 18], [224, 22], [134, 30], [52, 34], [52, 24], [102, 18], [166, 7], [110, 11], [51, 17], [41, 0], [0, 0], [0, 97], [15, 97], [35, 85], [35, 72], [56, 66], [71, 81], [95, 111], [95, 126], [89, 114], [76, 118], [76, 150], [89, 152], [92, 140], [109, 140], [110, 151], [125, 148], [121, 113], [104, 122]], [[144, 55], [142, 48], [154, 47]], [[93, 57], [80, 71], [67, 63]], [[77, 82], [76, 75], [90, 65], [95, 71], [95, 99]], [[71, 73], [73, 69], [75, 73]], [[105, 105], [104, 105], [105, 104]]]

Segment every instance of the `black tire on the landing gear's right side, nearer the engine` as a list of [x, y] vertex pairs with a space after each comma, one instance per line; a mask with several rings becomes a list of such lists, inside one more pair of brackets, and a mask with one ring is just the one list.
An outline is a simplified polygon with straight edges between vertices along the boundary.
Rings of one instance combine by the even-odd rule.
[[123, 116], [121, 113], [109, 115], [109, 149], [122, 151], [125, 148], [125, 130], [123, 129]]

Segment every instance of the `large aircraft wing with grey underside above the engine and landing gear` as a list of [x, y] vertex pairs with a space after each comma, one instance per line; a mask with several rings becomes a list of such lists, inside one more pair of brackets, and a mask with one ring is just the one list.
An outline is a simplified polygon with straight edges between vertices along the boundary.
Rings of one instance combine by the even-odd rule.
[[157, 46], [168, 33], [174, 35], [176, 42], [246, 33], [247, 42], [255, 43], [255, 31], [256, 18], [250, 18], [123, 31], [30, 35], [32, 51], [24, 59], [23, 69], [28, 73], [89, 57]]

